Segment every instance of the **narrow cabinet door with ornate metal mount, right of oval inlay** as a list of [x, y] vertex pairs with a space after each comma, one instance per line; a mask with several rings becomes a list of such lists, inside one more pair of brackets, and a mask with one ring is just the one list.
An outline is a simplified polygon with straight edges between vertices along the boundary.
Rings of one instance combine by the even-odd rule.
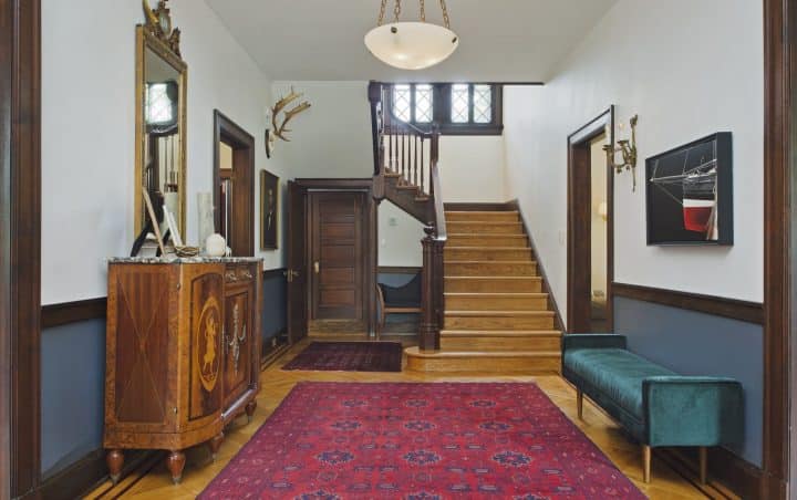
[[250, 288], [228, 290], [225, 300], [225, 408], [229, 408], [250, 387], [253, 335]]

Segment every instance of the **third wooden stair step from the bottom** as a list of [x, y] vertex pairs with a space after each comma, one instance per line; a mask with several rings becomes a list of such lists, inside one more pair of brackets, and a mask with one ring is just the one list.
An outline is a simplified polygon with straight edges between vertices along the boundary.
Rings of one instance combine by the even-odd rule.
[[446, 330], [552, 330], [552, 311], [446, 311]]

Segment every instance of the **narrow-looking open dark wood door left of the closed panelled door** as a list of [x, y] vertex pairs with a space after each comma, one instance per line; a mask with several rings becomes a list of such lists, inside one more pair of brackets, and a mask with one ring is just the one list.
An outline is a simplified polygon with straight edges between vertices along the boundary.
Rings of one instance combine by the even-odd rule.
[[288, 183], [288, 340], [307, 336], [307, 189]]

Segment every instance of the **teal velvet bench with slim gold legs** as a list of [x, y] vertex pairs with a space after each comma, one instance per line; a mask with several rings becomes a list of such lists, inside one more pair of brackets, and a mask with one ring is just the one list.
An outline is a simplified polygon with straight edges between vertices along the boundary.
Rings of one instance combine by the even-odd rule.
[[738, 442], [744, 429], [742, 385], [723, 377], [682, 376], [627, 350], [625, 337], [562, 337], [562, 375], [642, 444], [643, 478], [650, 482], [651, 448], [698, 447], [701, 481], [707, 447]]

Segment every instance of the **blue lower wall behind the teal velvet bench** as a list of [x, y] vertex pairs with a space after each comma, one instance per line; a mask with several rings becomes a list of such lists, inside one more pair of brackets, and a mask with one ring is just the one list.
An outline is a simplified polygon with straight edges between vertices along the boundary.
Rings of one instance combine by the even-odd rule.
[[732, 451], [762, 466], [762, 325], [615, 296], [614, 330], [628, 336], [631, 351], [670, 369], [684, 375], [727, 376], [739, 381], [745, 395], [745, 436], [742, 446]]

